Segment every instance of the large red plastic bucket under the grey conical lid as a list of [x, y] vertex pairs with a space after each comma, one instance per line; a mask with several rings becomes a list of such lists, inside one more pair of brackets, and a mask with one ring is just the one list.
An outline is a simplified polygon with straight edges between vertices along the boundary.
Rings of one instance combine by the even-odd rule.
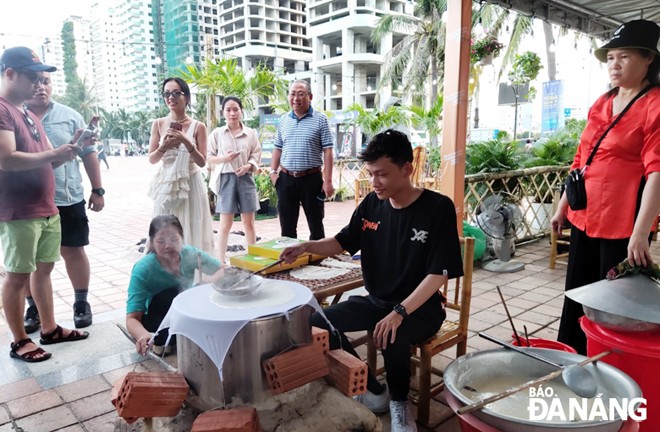
[[660, 337], [657, 333], [624, 333], [599, 326], [587, 317], [580, 318], [587, 335], [589, 357], [603, 351], [617, 350], [603, 357], [610, 364], [627, 373], [642, 389], [646, 398], [646, 420], [640, 432], [660, 430]]

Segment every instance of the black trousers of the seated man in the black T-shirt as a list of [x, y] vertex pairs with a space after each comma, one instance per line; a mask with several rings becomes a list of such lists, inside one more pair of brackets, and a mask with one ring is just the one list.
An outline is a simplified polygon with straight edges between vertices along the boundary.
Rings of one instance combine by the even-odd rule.
[[[392, 312], [391, 308], [376, 306], [369, 298], [351, 296], [348, 300], [324, 309], [325, 316], [339, 334], [330, 331], [326, 320], [316, 312], [312, 315], [313, 326], [324, 328], [330, 332], [330, 349], [342, 348], [355, 357], [360, 357], [351, 346], [344, 333], [373, 330], [378, 321]], [[403, 320], [397, 329], [393, 344], [388, 344], [383, 350], [387, 386], [392, 400], [408, 400], [410, 391], [410, 346], [433, 336], [445, 320], [446, 312], [438, 304], [424, 304], [421, 308]], [[340, 345], [341, 344], [341, 345]], [[369, 371], [367, 382], [369, 391], [379, 393], [381, 385]]]

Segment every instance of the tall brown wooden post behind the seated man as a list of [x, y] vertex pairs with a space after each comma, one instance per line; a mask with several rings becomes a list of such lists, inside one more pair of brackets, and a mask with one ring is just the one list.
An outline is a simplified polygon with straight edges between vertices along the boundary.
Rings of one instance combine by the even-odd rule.
[[454, 201], [462, 234], [472, 1], [449, 0], [447, 14], [440, 192]]

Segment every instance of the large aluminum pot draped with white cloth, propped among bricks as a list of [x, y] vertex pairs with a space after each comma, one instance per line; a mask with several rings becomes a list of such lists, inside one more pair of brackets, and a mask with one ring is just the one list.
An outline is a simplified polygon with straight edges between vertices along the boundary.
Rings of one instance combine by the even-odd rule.
[[295, 344], [311, 342], [309, 318], [314, 308], [298, 306], [284, 314], [250, 321], [232, 342], [222, 366], [223, 380], [211, 359], [190, 339], [177, 335], [177, 357], [195, 397], [190, 402], [201, 410], [225, 405], [232, 398], [263, 402], [271, 396], [261, 362]]

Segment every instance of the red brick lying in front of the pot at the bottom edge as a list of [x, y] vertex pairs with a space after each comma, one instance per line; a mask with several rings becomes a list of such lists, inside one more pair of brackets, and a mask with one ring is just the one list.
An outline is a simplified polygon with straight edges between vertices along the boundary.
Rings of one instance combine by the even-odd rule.
[[233, 408], [201, 414], [191, 432], [261, 432], [261, 425], [255, 408]]

